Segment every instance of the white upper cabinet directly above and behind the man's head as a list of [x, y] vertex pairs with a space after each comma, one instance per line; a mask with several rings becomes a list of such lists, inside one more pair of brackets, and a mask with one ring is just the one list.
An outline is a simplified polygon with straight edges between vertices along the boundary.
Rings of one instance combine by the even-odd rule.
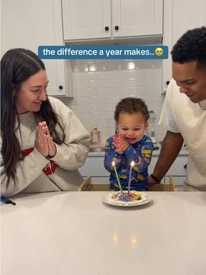
[[[176, 41], [187, 31], [206, 25], [206, 1], [167, 0], [163, 8], [163, 45], [169, 53]], [[172, 58], [163, 60], [163, 89], [165, 92], [172, 78]]]

